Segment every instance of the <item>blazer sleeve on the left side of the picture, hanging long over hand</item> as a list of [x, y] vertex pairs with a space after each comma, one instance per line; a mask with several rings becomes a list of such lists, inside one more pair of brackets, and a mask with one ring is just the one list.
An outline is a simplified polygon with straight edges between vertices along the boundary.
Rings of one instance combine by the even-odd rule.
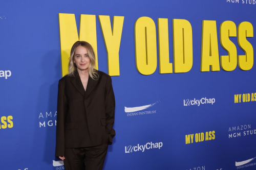
[[65, 117], [68, 111], [67, 97], [64, 91], [64, 85], [59, 80], [58, 84], [58, 102], [57, 102], [57, 125], [56, 125], [56, 148], [55, 156], [65, 156]]

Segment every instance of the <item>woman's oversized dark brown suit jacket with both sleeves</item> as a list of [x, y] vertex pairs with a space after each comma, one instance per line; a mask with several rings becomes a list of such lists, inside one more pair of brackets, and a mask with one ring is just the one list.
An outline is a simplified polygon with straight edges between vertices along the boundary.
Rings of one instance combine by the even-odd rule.
[[86, 91], [77, 70], [58, 84], [55, 156], [65, 156], [65, 148], [112, 144], [115, 96], [112, 79], [97, 71], [98, 80], [88, 79]]

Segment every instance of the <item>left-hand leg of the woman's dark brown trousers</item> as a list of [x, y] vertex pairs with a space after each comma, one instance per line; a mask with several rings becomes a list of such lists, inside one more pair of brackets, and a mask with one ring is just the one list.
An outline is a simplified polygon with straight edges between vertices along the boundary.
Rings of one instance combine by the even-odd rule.
[[65, 148], [65, 170], [84, 170], [84, 149]]

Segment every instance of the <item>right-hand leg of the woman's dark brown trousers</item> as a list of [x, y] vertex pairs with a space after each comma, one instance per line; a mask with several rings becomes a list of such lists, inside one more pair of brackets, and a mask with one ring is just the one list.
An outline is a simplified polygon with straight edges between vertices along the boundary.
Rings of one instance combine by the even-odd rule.
[[96, 147], [84, 148], [86, 154], [86, 170], [101, 170], [108, 151], [108, 143]]

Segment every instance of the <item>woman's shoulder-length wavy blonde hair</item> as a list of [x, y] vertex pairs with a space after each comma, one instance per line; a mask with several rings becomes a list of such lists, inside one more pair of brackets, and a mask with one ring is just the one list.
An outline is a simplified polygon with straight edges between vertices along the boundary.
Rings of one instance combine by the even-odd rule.
[[68, 76], [74, 76], [74, 71], [77, 70], [77, 66], [76, 64], [74, 64], [74, 55], [75, 55], [75, 50], [77, 46], [83, 46], [86, 47], [87, 51], [88, 51], [88, 55], [90, 58], [90, 64], [88, 67], [88, 72], [89, 72], [89, 76], [93, 79], [96, 80], [98, 79], [99, 75], [97, 74], [96, 69], [94, 69], [95, 66], [95, 53], [93, 51], [93, 47], [91, 44], [89, 44], [86, 41], [76, 41], [74, 43], [74, 45], [71, 48], [71, 52], [70, 52], [70, 58], [69, 58], [69, 74]]

